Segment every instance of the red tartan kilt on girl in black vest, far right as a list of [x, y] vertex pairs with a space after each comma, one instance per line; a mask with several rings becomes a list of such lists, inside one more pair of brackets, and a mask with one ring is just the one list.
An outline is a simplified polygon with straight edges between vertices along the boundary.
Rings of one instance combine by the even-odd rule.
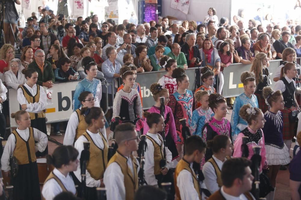
[[283, 114], [283, 139], [284, 140], [290, 140], [293, 139], [294, 136], [294, 128], [295, 128], [295, 122], [289, 121], [290, 112], [297, 110], [296, 107], [292, 106], [290, 108], [286, 108], [281, 110]]

